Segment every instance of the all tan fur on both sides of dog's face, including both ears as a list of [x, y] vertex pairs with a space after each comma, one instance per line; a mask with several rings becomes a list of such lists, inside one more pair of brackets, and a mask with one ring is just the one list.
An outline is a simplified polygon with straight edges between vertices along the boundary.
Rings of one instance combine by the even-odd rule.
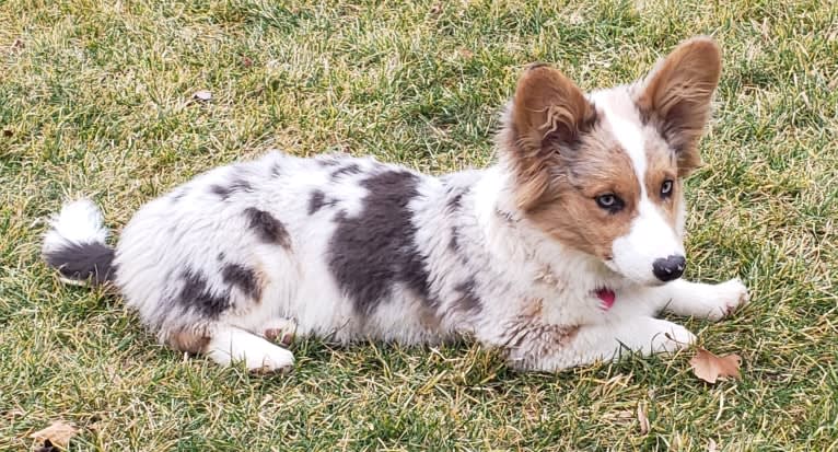
[[[643, 138], [649, 200], [673, 229], [682, 177], [700, 163], [698, 140], [720, 71], [718, 46], [709, 38], [690, 39], [617, 98], [617, 114], [636, 123]], [[614, 241], [629, 232], [638, 215], [641, 192], [629, 155], [598, 115], [561, 72], [534, 67], [519, 81], [501, 146], [511, 157], [517, 207], [555, 239], [608, 260]], [[662, 198], [666, 179], [673, 192]], [[605, 194], [618, 196], [625, 207], [600, 208], [596, 197]]]

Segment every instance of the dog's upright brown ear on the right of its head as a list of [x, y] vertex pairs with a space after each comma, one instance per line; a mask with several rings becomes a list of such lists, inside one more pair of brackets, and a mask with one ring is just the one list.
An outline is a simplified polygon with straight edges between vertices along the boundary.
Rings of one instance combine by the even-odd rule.
[[636, 91], [641, 114], [657, 126], [675, 150], [682, 177], [701, 164], [698, 141], [710, 118], [721, 71], [721, 50], [715, 42], [695, 37], [659, 61]]

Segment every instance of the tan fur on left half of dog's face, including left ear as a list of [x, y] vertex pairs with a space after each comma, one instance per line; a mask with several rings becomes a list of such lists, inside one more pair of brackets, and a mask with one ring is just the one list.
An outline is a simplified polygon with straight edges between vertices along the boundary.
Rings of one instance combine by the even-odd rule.
[[[565, 244], [609, 259], [612, 243], [637, 216], [640, 184], [612, 130], [559, 71], [524, 73], [515, 91], [512, 127], [519, 208]], [[626, 208], [612, 213], [596, 197], [615, 194]]]

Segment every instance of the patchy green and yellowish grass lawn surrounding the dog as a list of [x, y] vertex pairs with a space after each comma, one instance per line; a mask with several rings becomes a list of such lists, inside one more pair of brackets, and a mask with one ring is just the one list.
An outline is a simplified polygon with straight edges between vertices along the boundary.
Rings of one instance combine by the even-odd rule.
[[[838, 450], [838, 9], [828, 1], [0, 2], [0, 449], [51, 420], [71, 450]], [[186, 360], [119, 298], [61, 286], [43, 219], [143, 202], [269, 148], [441, 173], [491, 161], [521, 68], [628, 82], [694, 34], [725, 51], [689, 182], [692, 279], [753, 302], [687, 321], [688, 354], [520, 374], [472, 344], [294, 345], [290, 375]], [[208, 103], [191, 101], [209, 90]], [[651, 430], [641, 434], [638, 406]]]

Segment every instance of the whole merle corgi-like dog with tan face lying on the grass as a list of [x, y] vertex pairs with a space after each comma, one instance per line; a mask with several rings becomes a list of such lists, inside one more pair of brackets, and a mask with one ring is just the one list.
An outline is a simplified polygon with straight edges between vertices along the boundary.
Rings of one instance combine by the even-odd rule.
[[91, 201], [68, 204], [43, 255], [66, 280], [113, 283], [162, 343], [222, 366], [288, 369], [293, 333], [468, 335], [540, 371], [672, 352], [695, 336], [656, 313], [717, 321], [747, 301], [738, 279], [679, 279], [684, 178], [720, 72], [708, 37], [587, 94], [532, 66], [488, 169], [434, 177], [275, 152], [146, 204], [115, 250]]

